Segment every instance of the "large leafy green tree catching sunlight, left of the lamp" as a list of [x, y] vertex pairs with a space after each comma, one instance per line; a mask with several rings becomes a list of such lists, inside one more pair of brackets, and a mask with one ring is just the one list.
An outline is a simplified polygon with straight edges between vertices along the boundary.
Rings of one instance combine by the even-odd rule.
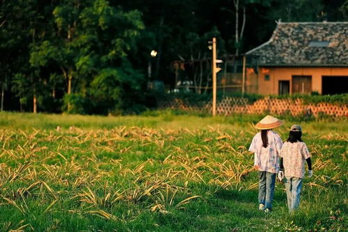
[[[67, 95], [76, 92], [87, 97], [96, 93], [88, 92], [89, 88], [97, 88], [109, 79], [114, 79], [109, 83], [113, 85], [107, 85], [109, 88], [122, 88], [125, 79], [120, 76], [125, 74], [122, 67], [127, 61], [127, 52], [143, 29], [141, 13], [124, 12], [105, 0], [63, 1], [53, 13], [56, 36], [33, 48], [31, 63], [58, 65], [68, 82]], [[113, 99], [120, 100], [121, 96], [115, 94]], [[66, 99], [69, 111], [69, 96]]]

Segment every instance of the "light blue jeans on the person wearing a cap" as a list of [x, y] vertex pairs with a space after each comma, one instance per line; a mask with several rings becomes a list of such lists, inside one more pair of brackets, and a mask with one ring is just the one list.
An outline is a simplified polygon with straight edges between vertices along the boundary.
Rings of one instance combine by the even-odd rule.
[[290, 211], [296, 210], [300, 206], [301, 188], [302, 188], [301, 178], [285, 176], [287, 207], [289, 208]]

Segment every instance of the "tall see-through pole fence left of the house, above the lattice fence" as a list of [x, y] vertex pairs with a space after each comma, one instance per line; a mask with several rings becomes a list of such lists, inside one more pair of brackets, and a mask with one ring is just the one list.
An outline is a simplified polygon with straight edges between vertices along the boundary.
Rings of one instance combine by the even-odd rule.
[[[218, 93], [258, 93], [258, 75], [255, 73], [257, 65], [255, 59], [246, 57], [245, 82], [243, 82], [242, 56], [220, 56], [223, 60], [220, 64], [221, 71], [216, 75]], [[175, 85], [173, 92], [207, 93], [212, 88], [212, 61], [210, 58], [173, 61], [175, 73]]]

